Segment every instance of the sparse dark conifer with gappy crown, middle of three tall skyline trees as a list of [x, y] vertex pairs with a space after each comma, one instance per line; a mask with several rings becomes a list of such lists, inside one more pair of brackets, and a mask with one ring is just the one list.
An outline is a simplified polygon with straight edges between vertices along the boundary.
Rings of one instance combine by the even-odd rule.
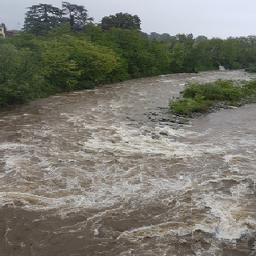
[[82, 30], [88, 22], [94, 21], [94, 18], [88, 16], [88, 10], [86, 10], [85, 6], [62, 2], [62, 11], [68, 16], [66, 21], [70, 22], [71, 30]]

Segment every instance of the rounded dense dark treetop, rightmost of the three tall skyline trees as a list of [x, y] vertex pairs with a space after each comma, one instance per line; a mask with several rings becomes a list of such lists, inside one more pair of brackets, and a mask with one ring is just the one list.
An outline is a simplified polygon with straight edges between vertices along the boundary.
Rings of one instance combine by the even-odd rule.
[[141, 19], [137, 15], [118, 13], [102, 18], [102, 30], [109, 30], [111, 27], [126, 30], [140, 30]]

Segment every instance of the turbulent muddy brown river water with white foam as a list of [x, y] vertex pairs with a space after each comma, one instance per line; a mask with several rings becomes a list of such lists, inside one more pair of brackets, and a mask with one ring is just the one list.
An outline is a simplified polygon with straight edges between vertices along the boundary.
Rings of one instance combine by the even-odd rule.
[[255, 105], [183, 127], [147, 115], [217, 78], [249, 75], [143, 78], [1, 110], [0, 255], [255, 255]]

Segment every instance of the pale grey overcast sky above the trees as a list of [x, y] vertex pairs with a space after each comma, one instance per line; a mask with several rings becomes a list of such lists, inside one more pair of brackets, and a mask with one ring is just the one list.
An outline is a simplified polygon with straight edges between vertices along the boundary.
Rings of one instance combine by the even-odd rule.
[[[68, 1], [69, 2], [69, 1]], [[94, 22], [118, 12], [136, 14], [142, 31], [228, 38], [256, 34], [256, 0], [74, 0], [85, 6]], [[0, 23], [22, 28], [26, 7], [48, 3], [61, 8], [61, 0], [0, 0]], [[20, 25], [18, 25], [20, 24]]]

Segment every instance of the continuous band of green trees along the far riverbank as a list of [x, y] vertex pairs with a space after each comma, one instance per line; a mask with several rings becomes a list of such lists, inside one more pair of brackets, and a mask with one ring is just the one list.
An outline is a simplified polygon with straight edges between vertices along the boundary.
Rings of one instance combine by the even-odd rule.
[[159, 74], [243, 69], [256, 62], [256, 37], [194, 38], [141, 31], [137, 15], [93, 22], [84, 6], [39, 4], [23, 32], [0, 40], [0, 106], [64, 91]]

